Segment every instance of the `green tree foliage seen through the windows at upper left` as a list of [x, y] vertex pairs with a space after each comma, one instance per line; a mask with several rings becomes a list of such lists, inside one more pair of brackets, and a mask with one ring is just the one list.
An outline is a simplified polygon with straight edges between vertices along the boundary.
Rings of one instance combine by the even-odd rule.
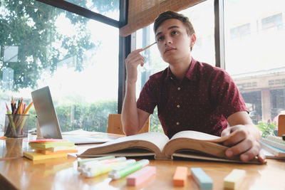
[[[94, 0], [101, 12], [118, 7], [118, 0]], [[85, 6], [87, 0], [76, 1]], [[90, 31], [86, 28], [89, 19], [71, 12], [57, 9], [34, 0], [1, 0], [0, 9], [0, 77], [3, 70], [14, 70], [13, 90], [36, 88], [36, 81], [44, 69], [53, 73], [60, 60], [76, 58], [76, 70], [83, 70], [83, 55], [100, 46], [100, 42], [90, 42]], [[73, 24], [73, 36], [58, 33], [56, 20], [63, 16]], [[60, 47], [58, 47], [58, 45]], [[17, 46], [17, 62], [4, 62], [4, 47]]]

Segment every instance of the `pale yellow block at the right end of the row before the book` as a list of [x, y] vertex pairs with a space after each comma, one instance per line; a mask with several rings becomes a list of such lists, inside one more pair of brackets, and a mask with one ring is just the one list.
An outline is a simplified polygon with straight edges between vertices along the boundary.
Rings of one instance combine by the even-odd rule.
[[242, 184], [246, 171], [243, 169], [233, 169], [232, 172], [224, 178], [224, 188], [237, 189]]

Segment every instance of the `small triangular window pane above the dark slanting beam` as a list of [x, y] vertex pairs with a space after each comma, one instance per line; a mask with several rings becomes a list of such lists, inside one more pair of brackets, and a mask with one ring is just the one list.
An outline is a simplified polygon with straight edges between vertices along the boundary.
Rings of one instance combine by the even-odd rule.
[[120, 19], [120, 0], [65, 0], [111, 19]]

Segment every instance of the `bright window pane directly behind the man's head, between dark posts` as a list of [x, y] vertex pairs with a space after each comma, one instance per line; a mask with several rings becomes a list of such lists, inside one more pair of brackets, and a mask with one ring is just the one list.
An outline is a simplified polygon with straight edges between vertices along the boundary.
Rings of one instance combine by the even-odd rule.
[[[180, 11], [181, 14], [189, 17], [192, 25], [195, 28], [197, 36], [196, 44], [192, 50], [192, 57], [204, 63], [215, 65], [214, 57], [214, 1], [204, 1], [200, 4], [192, 6], [188, 9]], [[155, 42], [155, 34], [153, 32], [153, 24], [136, 32], [136, 48], [144, 48], [151, 43]], [[138, 81], [136, 88], [137, 98], [140, 95], [145, 82], [150, 75], [164, 70], [168, 67], [160, 57], [160, 52], [157, 46], [152, 46], [142, 52], [142, 56], [145, 57], [145, 65], [143, 67], [138, 66]], [[151, 130], [160, 131], [161, 125], [157, 118], [157, 108], [151, 115]]]

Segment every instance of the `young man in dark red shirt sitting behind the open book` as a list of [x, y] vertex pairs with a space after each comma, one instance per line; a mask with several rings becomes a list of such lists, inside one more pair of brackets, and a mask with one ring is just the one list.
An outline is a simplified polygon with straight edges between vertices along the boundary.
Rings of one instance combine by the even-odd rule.
[[[144, 64], [142, 49], [131, 52], [125, 59], [127, 80], [122, 110], [125, 134], [137, 134], [157, 106], [168, 137], [182, 130], [217, 136], [233, 133], [224, 142], [230, 147], [227, 157], [239, 155], [242, 161], [248, 161], [259, 156], [263, 162], [259, 130], [253, 125], [232, 78], [224, 70], [192, 58], [196, 36], [189, 19], [166, 11], [155, 19], [154, 31], [160, 55], [169, 67], [150, 76], [136, 102], [137, 68]], [[231, 127], [227, 127], [228, 123]]]

